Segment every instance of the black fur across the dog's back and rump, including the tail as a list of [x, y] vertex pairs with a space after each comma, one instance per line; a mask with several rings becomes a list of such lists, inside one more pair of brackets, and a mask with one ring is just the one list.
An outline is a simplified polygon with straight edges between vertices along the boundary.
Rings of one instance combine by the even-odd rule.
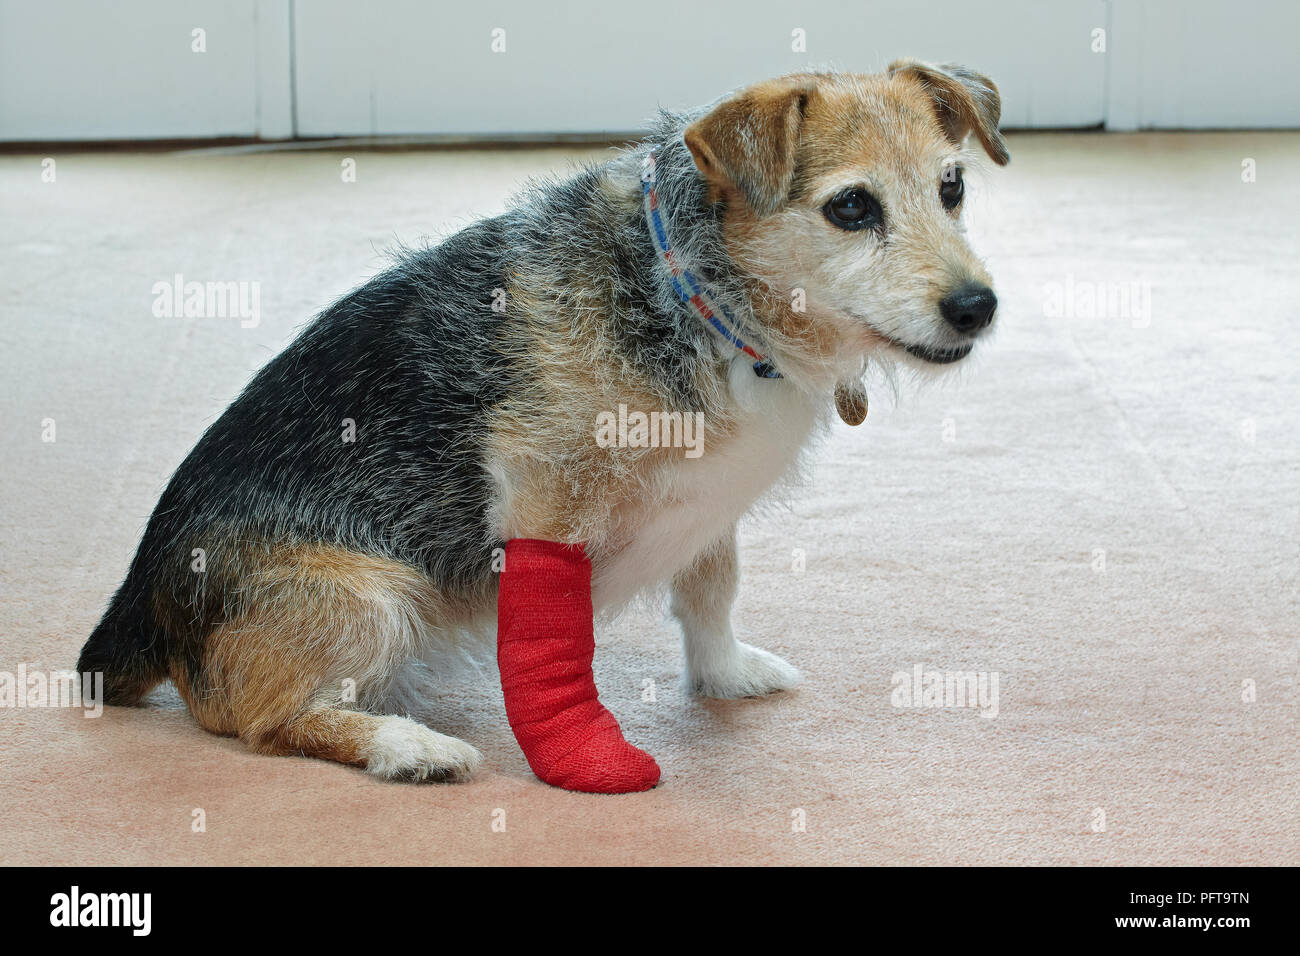
[[477, 442], [516, 377], [491, 308], [504, 256], [500, 220], [407, 254], [256, 375], [177, 468], [82, 650], [108, 702], [200, 679], [207, 635], [295, 548], [419, 568], [446, 601], [490, 587]]

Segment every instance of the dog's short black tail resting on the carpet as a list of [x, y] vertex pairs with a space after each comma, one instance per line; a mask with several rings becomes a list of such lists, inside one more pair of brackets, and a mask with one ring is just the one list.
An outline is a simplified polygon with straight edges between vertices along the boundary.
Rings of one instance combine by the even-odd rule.
[[148, 601], [124, 584], [91, 631], [77, 661], [81, 674], [104, 675], [104, 704], [130, 706], [166, 675], [166, 635]]

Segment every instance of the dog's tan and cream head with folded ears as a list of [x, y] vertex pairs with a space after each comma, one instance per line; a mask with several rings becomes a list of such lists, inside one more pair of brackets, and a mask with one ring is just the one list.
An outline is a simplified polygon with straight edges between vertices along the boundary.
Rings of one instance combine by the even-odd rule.
[[828, 364], [965, 358], [997, 307], [962, 225], [966, 140], [1005, 165], [1000, 109], [987, 77], [900, 60], [759, 83], [692, 122], [686, 147], [725, 203], [728, 251], [771, 293], [758, 311], [774, 336]]

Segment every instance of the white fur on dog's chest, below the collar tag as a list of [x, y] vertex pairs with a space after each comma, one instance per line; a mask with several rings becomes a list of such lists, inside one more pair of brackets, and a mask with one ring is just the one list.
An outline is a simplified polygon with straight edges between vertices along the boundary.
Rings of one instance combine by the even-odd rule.
[[670, 459], [655, 490], [620, 509], [594, 568], [597, 607], [671, 579], [792, 472], [816, 429], [816, 405], [784, 382], [760, 386], [770, 394], [760, 393], [729, 434], [710, 441], [706, 419], [702, 454]]

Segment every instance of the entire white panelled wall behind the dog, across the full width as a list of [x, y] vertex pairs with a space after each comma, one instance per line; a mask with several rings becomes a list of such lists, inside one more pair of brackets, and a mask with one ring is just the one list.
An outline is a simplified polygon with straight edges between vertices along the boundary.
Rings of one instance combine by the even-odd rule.
[[625, 133], [904, 55], [988, 73], [1009, 127], [1297, 126], [1296, 35], [1292, 0], [0, 0], [0, 140]]

